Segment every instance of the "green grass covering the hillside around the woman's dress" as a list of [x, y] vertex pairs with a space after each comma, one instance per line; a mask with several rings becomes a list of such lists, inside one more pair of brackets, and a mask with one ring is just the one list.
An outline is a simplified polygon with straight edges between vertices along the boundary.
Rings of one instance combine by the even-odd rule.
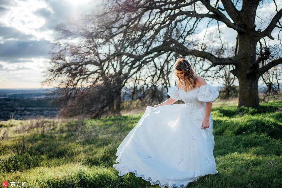
[[[216, 175], [187, 187], [282, 187], [282, 101], [212, 108]], [[141, 114], [0, 122], [0, 181], [28, 187], [159, 187], [118, 176], [116, 149]], [[9, 185], [10, 186], [10, 185]]]

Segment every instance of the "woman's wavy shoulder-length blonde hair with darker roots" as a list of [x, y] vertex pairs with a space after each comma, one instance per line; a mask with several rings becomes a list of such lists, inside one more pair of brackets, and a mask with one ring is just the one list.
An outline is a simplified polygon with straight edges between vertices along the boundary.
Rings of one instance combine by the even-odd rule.
[[[188, 61], [186, 61], [183, 58], [178, 58], [173, 64], [173, 69], [174, 69], [177, 85], [179, 85], [184, 91], [189, 91], [195, 87], [196, 74], [190, 63], [188, 63]], [[177, 76], [176, 70], [184, 72], [184, 76], [183, 76], [184, 81], [182, 81]]]

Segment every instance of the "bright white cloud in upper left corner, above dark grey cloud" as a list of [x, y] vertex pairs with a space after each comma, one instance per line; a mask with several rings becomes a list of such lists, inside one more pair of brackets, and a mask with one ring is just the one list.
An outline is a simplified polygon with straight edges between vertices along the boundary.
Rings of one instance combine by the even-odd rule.
[[[40, 28], [45, 25], [48, 15], [52, 10], [48, 7], [48, 4], [43, 0], [37, 1], [20, 1], [10, 0], [10, 4], [5, 4], [4, 7], [6, 14], [1, 15], [0, 25], [3, 28], [11, 28], [14, 31], [9, 34], [10, 38], [18, 39], [19, 32], [26, 36], [32, 36], [29, 40], [42, 40], [50, 38], [52, 30], [41, 31]], [[0, 33], [0, 36], [3, 34]], [[13, 36], [15, 35], [15, 36]], [[21, 35], [21, 36], [23, 36]], [[4, 37], [1, 37], [4, 40]], [[3, 41], [1, 42], [3, 43]]]

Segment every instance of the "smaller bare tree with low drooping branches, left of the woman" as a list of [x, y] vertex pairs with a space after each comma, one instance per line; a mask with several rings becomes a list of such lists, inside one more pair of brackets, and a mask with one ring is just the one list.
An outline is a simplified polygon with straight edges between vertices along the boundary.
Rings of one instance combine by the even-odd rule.
[[[56, 96], [53, 102], [61, 108], [60, 114], [100, 117], [108, 110], [119, 114], [124, 87], [132, 89], [131, 95], [138, 93], [142, 100], [148, 99], [149, 92], [149, 101], [162, 101], [160, 92], [169, 85], [169, 54], [158, 53], [143, 60], [135, 54], [140, 47], [132, 45], [128, 35], [105, 30], [99, 25], [101, 20], [91, 16], [85, 15], [80, 23], [71, 20], [56, 27], [58, 39], [43, 84], [57, 88], [51, 95]], [[164, 58], [164, 63], [158, 58]], [[126, 85], [129, 81], [131, 84]]]

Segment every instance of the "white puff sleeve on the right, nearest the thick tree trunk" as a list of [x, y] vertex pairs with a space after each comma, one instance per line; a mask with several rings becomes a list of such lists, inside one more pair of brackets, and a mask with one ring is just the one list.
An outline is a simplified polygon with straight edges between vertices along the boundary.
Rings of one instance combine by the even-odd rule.
[[201, 85], [198, 93], [198, 100], [202, 102], [213, 102], [218, 97], [218, 90], [211, 85]]

